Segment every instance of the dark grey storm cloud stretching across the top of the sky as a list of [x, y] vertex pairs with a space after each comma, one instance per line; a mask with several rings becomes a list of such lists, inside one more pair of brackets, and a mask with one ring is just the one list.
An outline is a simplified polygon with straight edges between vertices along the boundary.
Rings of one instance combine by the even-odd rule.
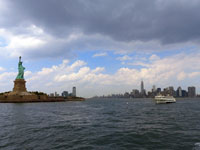
[[125, 42], [200, 39], [196, 0], [10, 0], [7, 4], [10, 9], [0, 26], [13, 30], [35, 24], [57, 37], [78, 30]]

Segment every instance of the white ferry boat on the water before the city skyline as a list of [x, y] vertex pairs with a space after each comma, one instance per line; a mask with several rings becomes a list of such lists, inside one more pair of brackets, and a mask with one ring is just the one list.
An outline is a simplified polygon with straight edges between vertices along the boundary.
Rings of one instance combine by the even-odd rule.
[[176, 103], [176, 99], [170, 95], [157, 95], [154, 99], [156, 101], [156, 104]]

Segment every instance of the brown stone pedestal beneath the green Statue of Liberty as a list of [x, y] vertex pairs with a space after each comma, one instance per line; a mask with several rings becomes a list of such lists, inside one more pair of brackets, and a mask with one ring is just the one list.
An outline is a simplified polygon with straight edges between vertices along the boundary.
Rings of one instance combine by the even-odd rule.
[[13, 92], [15, 92], [15, 93], [27, 92], [26, 91], [26, 81], [24, 79], [16, 79], [14, 81]]

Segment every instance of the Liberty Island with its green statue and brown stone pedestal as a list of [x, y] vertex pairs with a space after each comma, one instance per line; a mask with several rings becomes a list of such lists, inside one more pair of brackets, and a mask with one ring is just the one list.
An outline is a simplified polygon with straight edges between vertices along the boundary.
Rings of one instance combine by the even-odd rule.
[[21, 56], [18, 62], [18, 74], [14, 81], [14, 88], [11, 92], [0, 93], [0, 103], [24, 103], [24, 102], [64, 102], [78, 100], [82, 101], [81, 97], [49, 97], [43, 92], [28, 92], [26, 89], [26, 81], [24, 79], [25, 67], [22, 65]]

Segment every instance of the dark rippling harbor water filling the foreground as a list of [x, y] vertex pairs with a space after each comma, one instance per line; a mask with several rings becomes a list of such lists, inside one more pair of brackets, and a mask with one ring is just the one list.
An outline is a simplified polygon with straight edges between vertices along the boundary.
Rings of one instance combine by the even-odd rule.
[[200, 99], [0, 104], [1, 150], [200, 150]]

